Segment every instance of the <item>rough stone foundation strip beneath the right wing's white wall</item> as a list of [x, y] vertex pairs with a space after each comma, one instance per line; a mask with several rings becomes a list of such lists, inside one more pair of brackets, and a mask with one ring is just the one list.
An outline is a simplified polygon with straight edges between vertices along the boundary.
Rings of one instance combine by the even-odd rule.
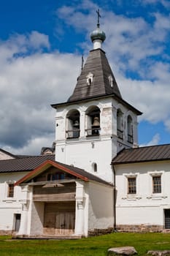
[[163, 232], [163, 226], [161, 225], [117, 225], [116, 230], [118, 232]]

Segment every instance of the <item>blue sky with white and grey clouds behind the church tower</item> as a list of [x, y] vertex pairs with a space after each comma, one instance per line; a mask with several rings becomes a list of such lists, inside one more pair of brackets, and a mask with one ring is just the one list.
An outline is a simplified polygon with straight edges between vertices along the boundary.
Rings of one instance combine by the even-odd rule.
[[0, 7], [0, 148], [52, 146], [50, 104], [72, 94], [98, 8], [123, 99], [143, 112], [139, 144], [170, 143], [169, 0], [8, 0]]

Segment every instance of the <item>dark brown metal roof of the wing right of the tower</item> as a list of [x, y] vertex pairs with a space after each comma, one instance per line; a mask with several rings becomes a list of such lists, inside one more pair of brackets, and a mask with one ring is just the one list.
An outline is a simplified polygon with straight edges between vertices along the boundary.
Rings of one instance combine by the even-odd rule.
[[112, 159], [113, 165], [170, 159], [170, 144], [123, 149]]

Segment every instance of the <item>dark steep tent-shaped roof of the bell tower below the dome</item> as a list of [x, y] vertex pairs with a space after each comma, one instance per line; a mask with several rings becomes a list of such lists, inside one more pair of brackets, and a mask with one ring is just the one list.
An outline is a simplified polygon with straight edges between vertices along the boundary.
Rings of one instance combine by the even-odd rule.
[[[87, 75], [90, 72], [93, 74], [93, 82], [88, 86]], [[109, 83], [109, 75], [112, 75], [112, 87]], [[115, 94], [122, 98], [104, 50], [90, 50], [88, 59], [85, 62], [85, 66], [77, 80], [77, 85], [72, 96], [69, 97], [68, 102], [108, 94]]]

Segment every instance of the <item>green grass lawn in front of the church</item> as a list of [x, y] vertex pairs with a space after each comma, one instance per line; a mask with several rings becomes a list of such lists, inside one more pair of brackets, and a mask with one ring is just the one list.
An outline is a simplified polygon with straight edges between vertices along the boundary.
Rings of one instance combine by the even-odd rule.
[[112, 233], [80, 240], [12, 240], [0, 236], [0, 255], [37, 256], [106, 256], [107, 249], [117, 246], [134, 246], [138, 255], [150, 249], [170, 249], [170, 234], [162, 233]]

